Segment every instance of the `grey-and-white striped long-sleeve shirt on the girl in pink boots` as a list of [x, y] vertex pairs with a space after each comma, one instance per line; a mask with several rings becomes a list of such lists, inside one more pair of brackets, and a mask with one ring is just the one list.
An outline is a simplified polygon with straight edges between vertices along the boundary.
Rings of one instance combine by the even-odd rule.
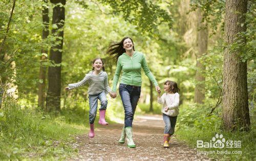
[[93, 71], [90, 71], [88, 74], [86, 74], [82, 81], [69, 84], [69, 90], [83, 86], [86, 83], [89, 83], [88, 94], [90, 95], [99, 94], [103, 91], [105, 93], [111, 92], [109, 87], [108, 74], [104, 71], [100, 71], [98, 75], [95, 75]]

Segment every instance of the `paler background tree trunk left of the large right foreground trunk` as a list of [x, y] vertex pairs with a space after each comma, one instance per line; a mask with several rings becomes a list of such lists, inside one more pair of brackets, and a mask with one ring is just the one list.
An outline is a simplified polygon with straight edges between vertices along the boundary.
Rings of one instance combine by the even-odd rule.
[[202, 104], [204, 101], [205, 77], [202, 72], [205, 70], [205, 66], [198, 60], [204, 53], [207, 52], [208, 43], [208, 30], [206, 22], [202, 22], [201, 9], [198, 9], [198, 54], [197, 54], [197, 72], [196, 72], [196, 88], [195, 88], [195, 102]]

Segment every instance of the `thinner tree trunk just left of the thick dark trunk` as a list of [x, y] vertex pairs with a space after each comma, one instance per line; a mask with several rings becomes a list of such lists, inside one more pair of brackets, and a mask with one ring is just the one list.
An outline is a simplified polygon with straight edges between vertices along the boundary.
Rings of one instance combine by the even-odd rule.
[[[44, 0], [42, 5], [42, 23], [44, 24], [44, 29], [42, 29], [42, 42], [49, 35], [49, 10], [48, 10], [48, 0]], [[41, 109], [45, 108], [45, 98], [46, 98], [46, 66], [43, 64], [48, 55], [48, 49], [42, 46], [41, 49], [41, 60], [39, 69], [39, 85], [38, 85], [38, 106]]]

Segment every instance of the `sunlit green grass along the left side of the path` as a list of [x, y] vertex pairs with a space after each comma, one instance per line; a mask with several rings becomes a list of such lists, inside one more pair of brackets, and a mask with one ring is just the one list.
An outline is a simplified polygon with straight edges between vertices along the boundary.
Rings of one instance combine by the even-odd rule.
[[63, 116], [50, 117], [10, 103], [0, 111], [0, 160], [65, 159], [76, 155], [75, 136], [83, 125], [66, 123]]

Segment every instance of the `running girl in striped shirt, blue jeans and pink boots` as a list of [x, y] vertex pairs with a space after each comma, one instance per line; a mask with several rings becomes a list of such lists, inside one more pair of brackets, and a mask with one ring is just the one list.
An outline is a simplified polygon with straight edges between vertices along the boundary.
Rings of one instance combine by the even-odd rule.
[[89, 122], [90, 122], [90, 132], [89, 137], [94, 137], [94, 120], [97, 114], [98, 99], [100, 100], [99, 108], [99, 124], [108, 125], [109, 123], [105, 121], [106, 106], [108, 105], [108, 100], [106, 99], [106, 93], [109, 93], [113, 97], [113, 93], [109, 87], [108, 74], [105, 72], [104, 62], [101, 58], [96, 58], [93, 60], [93, 70], [90, 71], [82, 79], [82, 81], [74, 84], [69, 84], [66, 90], [71, 90], [85, 84], [89, 84], [88, 94], [89, 94]]

